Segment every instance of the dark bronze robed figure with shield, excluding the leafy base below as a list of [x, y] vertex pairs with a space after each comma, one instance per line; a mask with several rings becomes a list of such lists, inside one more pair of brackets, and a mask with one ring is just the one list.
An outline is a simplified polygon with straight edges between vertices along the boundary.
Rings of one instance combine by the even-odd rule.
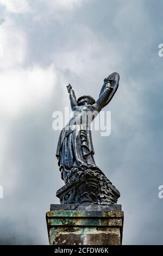
[[[73, 117], [60, 133], [56, 153], [61, 178], [65, 183], [68, 173], [73, 168], [98, 168], [93, 157], [95, 152], [89, 123], [111, 101], [118, 88], [119, 80], [120, 76], [116, 72], [105, 78], [97, 101], [88, 95], [81, 96], [77, 100], [71, 84], [68, 84], [67, 90], [70, 95]], [[83, 113], [92, 113], [92, 117], [82, 118]], [[89, 117], [89, 115], [86, 116]]]

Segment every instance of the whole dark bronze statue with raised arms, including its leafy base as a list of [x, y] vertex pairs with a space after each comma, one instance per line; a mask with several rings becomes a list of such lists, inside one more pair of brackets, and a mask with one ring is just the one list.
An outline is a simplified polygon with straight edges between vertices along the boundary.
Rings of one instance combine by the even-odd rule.
[[114, 204], [120, 197], [120, 192], [96, 166], [90, 130], [93, 119], [114, 96], [119, 80], [116, 72], [105, 78], [97, 101], [86, 95], [77, 100], [72, 86], [67, 86], [73, 117], [60, 133], [56, 153], [66, 184], [57, 191], [62, 204]]

